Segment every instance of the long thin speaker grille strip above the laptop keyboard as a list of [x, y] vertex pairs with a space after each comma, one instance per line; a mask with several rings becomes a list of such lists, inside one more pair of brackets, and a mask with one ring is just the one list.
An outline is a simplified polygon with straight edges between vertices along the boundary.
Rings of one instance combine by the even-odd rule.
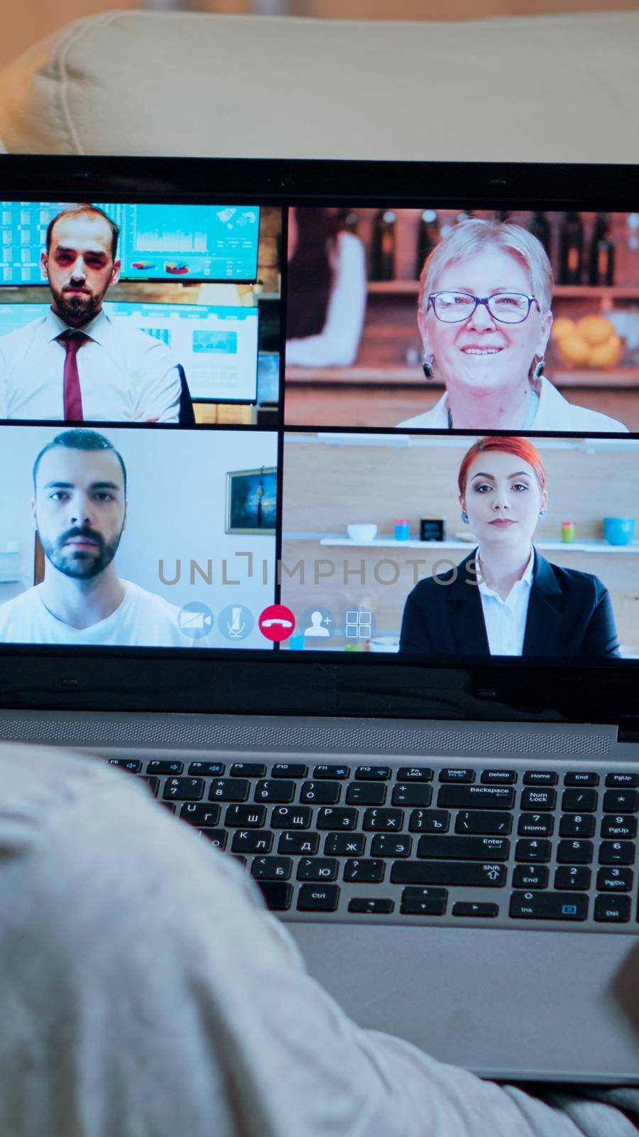
[[219, 719], [133, 716], [102, 717], [72, 715], [47, 719], [0, 717], [0, 737], [6, 740], [32, 742], [61, 742], [82, 746], [223, 746], [238, 749], [276, 749], [340, 752], [400, 752], [425, 754], [429, 752], [458, 752], [460, 754], [548, 754], [601, 755], [607, 754], [611, 737], [587, 729], [570, 728], [557, 731], [530, 729], [500, 730], [470, 729], [460, 725], [413, 728], [371, 724], [360, 720], [317, 724], [273, 722], [224, 722]]

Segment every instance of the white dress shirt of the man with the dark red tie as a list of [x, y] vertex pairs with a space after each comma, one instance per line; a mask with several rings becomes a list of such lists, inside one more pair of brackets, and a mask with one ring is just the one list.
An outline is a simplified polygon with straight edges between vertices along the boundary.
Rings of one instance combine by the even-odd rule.
[[[0, 337], [0, 418], [64, 420], [68, 325], [45, 316]], [[75, 331], [75, 329], [74, 329]], [[177, 422], [177, 360], [160, 340], [100, 310], [84, 327], [77, 352], [82, 414], [86, 422]]]

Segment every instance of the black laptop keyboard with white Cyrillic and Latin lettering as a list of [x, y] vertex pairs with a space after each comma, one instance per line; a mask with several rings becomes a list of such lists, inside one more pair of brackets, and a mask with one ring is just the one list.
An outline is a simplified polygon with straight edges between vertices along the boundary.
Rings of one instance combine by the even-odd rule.
[[636, 930], [629, 769], [107, 761], [284, 919]]

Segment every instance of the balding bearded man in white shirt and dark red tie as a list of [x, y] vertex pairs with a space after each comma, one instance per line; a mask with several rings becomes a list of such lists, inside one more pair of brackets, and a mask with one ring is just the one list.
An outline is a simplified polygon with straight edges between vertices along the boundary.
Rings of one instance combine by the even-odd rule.
[[51, 221], [41, 255], [51, 307], [0, 338], [0, 418], [177, 422], [177, 360], [102, 309], [119, 279], [117, 241], [117, 225], [96, 206]]

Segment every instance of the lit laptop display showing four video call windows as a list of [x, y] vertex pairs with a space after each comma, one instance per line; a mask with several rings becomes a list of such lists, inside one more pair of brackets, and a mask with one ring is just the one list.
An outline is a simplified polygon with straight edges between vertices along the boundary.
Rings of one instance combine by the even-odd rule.
[[639, 658], [639, 215], [252, 201], [3, 201], [2, 650]]

